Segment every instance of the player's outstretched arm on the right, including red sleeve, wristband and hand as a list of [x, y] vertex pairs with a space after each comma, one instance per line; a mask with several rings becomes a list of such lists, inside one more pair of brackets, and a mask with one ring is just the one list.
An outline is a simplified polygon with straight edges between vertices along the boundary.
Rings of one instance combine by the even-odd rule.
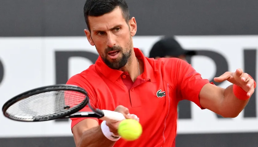
[[175, 79], [172, 83], [177, 83], [179, 100], [190, 100], [201, 109], [209, 109], [222, 117], [238, 116], [256, 87], [252, 77], [241, 69], [214, 78], [216, 82], [227, 80], [233, 84], [224, 89], [202, 79], [189, 63], [180, 59], [171, 61], [174, 63], [171, 77]]

